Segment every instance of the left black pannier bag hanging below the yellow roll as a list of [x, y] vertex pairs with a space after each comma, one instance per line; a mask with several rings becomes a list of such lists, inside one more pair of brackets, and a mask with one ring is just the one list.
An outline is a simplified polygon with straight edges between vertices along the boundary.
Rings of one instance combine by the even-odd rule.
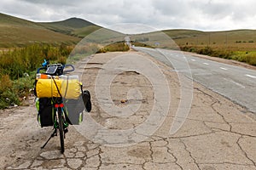
[[54, 124], [54, 105], [51, 98], [39, 98], [38, 99], [38, 122], [41, 127], [49, 127]]

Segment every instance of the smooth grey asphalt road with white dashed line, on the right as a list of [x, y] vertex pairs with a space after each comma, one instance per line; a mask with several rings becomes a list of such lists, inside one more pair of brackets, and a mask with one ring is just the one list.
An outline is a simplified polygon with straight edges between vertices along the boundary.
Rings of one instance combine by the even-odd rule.
[[137, 48], [256, 113], [256, 71], [166, 49]]

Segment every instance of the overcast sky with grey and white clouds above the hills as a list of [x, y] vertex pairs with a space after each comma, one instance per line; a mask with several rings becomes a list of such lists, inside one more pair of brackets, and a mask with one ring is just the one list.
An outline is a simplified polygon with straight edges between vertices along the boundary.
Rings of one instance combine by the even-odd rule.
[[1, 0], [0, 11], [32, 21], [78, 17], [99, 26], [137, 23], [156, 29], [256, 29], [255, 0]]

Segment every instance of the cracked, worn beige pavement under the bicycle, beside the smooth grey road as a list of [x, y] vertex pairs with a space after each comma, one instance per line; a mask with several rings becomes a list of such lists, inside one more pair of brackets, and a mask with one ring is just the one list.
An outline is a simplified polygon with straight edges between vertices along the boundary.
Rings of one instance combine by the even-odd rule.
[[[155, 55], [160, 58], [160, 53]], [[81, 82], [84, 89], [90, 91], [92, 110], [84, 112], [84, 122], [80, 125], [68, 127], [64, 154], [61, 154], [58, 136], [40, 149], [52, 133], [52, 127], [39, 126], [31, 96], [26, 105], [0, 111], [0, 169], [256, 170], [256, 115], [199, 83], [194, 83], [189, 115], [183, 126], [176, 133], [170, 133], [177, 111], [187, 106], [181, 104], [183, 95], [178, 91], [182, 86], [177, 73], [189, 77], [189, 71], [184, 69], [188, 65], [178, 61], [173, 56], [175, 69], [172, 69], [148, 54], [135, 51], [95, 54], [80, 60], [75, 74], [84, 71]], [[168, 81], [171, 95], [167, 96], [171, 99], [157, 95], [158, 89], [165, 92], [159, 74], [146, 70], [150, 73], [148, 78], [143, 70], [131, 71], [127, 63], [143, 65], [143, 69], [157, 65]], [[119, 73], [118, 69], [124, 72]], [[111, 77], [114, 77], [111, 86], [97, 82], [98, 78], [108, 81]], [[160, 88], [152, 86], [151, 77], [158, 79]], [[186, 77], [184, 79], [189, 79]], [[188, 92], [189, 86], [185, 85], [184, 91]], [[111, 99], [105, 94], [110, 94]], [[169, 101], [170, 107], [159, 106], [162, 99]], [[137, 107], [137, 104], [141, 105]], [[108, 111], [113, 106], [122, 109], [119, 115], [113, 114], [114, 110]], [[164, 115], [166, 108], [169, 110]], [[132, 114], [124, 116], [123, 113], [129, 111], [133, 111]], [[161, 118], [165, 121], [158, 123]], [[148, 134], [152, 130], [153, 134]]]

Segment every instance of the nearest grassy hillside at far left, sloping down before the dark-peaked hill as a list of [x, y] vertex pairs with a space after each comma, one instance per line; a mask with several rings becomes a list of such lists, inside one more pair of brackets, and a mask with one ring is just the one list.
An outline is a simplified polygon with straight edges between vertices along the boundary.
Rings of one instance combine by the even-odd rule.
[[38, 23], [0, 13], [0, 48], [24, 47], [35, 42], [73, 43], [79, 42], [79, 38], [50, 31]]

